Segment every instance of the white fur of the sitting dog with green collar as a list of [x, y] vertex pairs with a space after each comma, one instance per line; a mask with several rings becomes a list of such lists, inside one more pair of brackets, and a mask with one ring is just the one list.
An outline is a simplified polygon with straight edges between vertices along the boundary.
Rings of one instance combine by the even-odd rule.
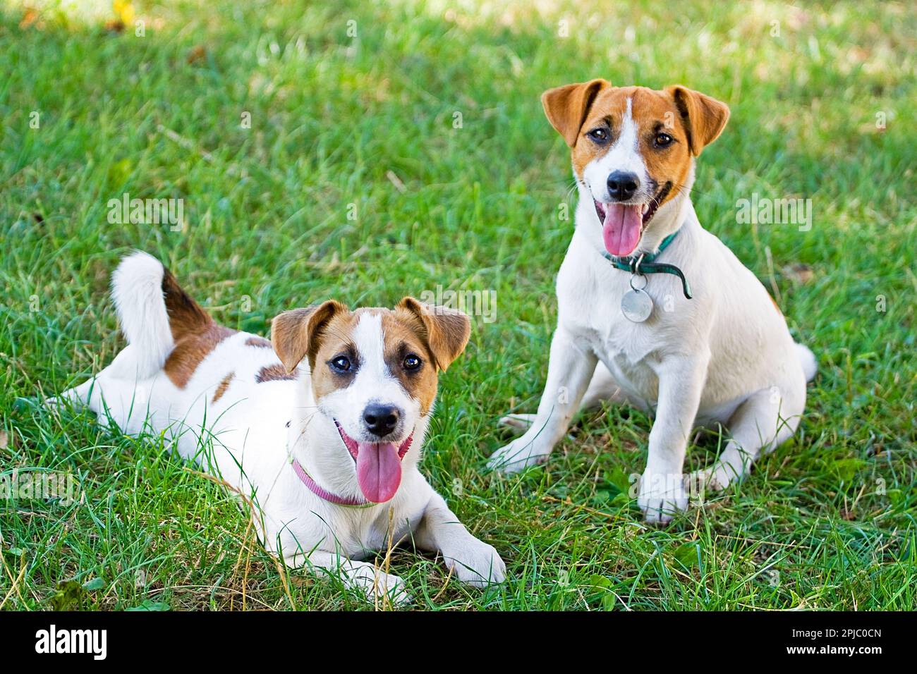
[[[722, 489], [795, 432], [816, 362], [793, 342], [755, 275], [701, 226], [689, 196], [693, 159], [688, 184], [659, 207], [634, 253], [656, 251], [679, 231], [657, 261], [684, 272], [693, 299], [684, 297], [677, 277], [656, 273], [646, 276], [652, 317], [631, 323], [621, 315], [631, 274], [602, 257], [593, 199], [609, 201], [612, 171], [634, 171], [648, 184], [636, 138], [628, 100], [620, 136], [577, 181], [576, 230], [558, 273], [558, 328], [538, 412], [504, 418], [527, 430], [494, 452], [490, 465], [509, 472], [539, 463], [578, 409], [603, 400], [632, 403], [656, 417], [637, 501], [648, 521], [666, 522], [688, 504], [683, 465], [692, 426], [722, 424], [730, 432], [713, 468], [692, 476]], [[650, 197], [637, 193], [634, 202]]]

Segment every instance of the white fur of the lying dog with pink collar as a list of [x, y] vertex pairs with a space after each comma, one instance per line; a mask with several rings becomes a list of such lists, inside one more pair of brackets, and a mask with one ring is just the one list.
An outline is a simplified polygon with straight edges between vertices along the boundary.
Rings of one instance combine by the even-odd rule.
[[[145, 253], [122, 261], [112, 295], [128, 346], [61, 399], [87, 404], [102, 423], [110, 420], [130, 435], [164, 433], [183, 458], [198, 461], [250, 497], [265, 547], [293, 567], [340, 570], [351, 587], [370, 595], [388, 591], [394, 601], [405, 601], [401, 579], [361, 561], [386, 546], [391, 522], [395, 544], [413, 541], [440, 552], [458, 580], [475, 585], [503, 580], [497, 551], [470, 535], [417, 469], [429, 415], [420, 414], [417, 402], [385, 370], [378, 315], [363, 315], [354, 331], [359, 375], [347, 388], [323, 397], [321, 409], [316, 409], [307, 362], [294, 381], [256, 383], [263, 367], [280, 360], [272, 348], [247, 346], [253, 337], [248, 333], [221, 341], [178, 388], [162, 371], [173, 348], [162, 278], [159, 260]], [[212, 403], [227, 371], [235, 372], [232, 385]], [[370, 401], [397, 403], [404, 414], [396, 432], [403, 437], [414, 432], [401, 485], [391, 501], [369, 508], [329, 503], [305, 487], [291, 461], [298, 459], [326, 490], [359, 497], [354, 461], [332, 417], [349, 436], [360, 437], [358, 416]]]

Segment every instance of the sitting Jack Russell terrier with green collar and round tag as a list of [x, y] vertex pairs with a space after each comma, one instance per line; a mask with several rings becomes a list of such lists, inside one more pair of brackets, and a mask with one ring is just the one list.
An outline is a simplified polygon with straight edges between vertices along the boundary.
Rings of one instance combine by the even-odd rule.
[[[525, 434], [490, 465], [540, 463], [578, 409], [632, 403], [655, 412], [637, 503], [647, 521], [668, 522], [687, 507], [686, 481], [723, 489], [795, 432], [815, 358], [691, 205], [695, 158], [723, 130], [726, 105], [683, 86], [601, 79], [542, 103], [571, 150], [576, 229], [538, 412], [503, 418]], [[730, 435], [723, 452], [686, 479], [692, 427], [717, 424]]]

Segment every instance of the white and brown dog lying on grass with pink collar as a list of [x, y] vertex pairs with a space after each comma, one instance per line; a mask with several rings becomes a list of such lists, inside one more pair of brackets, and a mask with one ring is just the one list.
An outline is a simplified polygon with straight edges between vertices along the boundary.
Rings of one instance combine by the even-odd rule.
[[394, 310], [329, 301], [278, 315], [268, 341], [217, 325], [141, 252], [122, 260], [112, 296], [127, 347], [61, 398], [127, 434], [166, 434], [250, 497], [269, 551], [399, 602], [402, 580], [359, 561], [387, 541], [441, 553], [458, 580], [503, 580], [497, 551], [417, 469], [466, 315], [410, 297]]

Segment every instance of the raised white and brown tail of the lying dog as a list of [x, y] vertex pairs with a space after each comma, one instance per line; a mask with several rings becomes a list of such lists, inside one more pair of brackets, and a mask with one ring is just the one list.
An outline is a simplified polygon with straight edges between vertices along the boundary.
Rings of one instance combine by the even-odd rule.
[[112, 274], [112, 300], [140, 378], [162, 369], [175, 342], [211, 318], [160, 260], [137, 250]]

